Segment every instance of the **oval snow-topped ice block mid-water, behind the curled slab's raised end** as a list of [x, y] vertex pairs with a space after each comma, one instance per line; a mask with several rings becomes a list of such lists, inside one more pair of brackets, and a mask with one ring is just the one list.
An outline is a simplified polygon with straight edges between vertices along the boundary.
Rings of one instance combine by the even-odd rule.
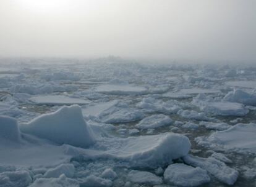
[[155, 129], [164, 125], [170, 125], [171, 123], [173, 123], [173, 120], [170, 117], [164, 114], [155, 114], [145, 117], [135, 127], [138, 129]]

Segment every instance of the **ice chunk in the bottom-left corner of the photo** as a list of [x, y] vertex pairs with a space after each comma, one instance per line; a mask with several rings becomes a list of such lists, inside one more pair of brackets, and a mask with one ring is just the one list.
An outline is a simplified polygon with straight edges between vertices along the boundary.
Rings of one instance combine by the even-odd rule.
[[27, 187], [31, 182], [32, 178], [25, 170], [0, 173], [1, 187]]

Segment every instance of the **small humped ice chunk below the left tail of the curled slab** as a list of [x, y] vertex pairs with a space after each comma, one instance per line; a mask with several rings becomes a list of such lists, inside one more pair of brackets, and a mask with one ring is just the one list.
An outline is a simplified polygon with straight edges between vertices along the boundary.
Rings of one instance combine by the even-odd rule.
[[75, 167], [73, 164], [61, 164], [53, 169], [49, 169], [43, 177], [45, 178], [59, 178], [62, 174], [66, 177], [72, 178], [75, 174]]

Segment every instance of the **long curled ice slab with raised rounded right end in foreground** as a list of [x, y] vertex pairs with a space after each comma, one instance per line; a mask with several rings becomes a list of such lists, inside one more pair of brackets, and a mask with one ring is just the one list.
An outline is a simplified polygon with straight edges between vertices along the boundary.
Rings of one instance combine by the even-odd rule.
[[[83, 156], [83, 159], [111, 158], [129, 164], [129, 167], [163, 167], [173, 159], [186, 156], [190, 150], [190, 141], [184, 135], [163, 133], [128, 138], [104, 138], [96, 149], [78, 149], [67, 146], [67, 153]], [[95, 145], [95, 146], [96, 146]]]

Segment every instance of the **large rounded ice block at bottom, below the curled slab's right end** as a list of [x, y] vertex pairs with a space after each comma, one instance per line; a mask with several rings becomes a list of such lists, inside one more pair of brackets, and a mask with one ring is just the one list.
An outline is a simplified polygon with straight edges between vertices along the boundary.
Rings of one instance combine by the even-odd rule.
[[208, 183], [210, 177], [207, 171], [200, 167], [185, 164], [171, 164], [164, 171], [164, 181], [177, 186], [199, 186]]

